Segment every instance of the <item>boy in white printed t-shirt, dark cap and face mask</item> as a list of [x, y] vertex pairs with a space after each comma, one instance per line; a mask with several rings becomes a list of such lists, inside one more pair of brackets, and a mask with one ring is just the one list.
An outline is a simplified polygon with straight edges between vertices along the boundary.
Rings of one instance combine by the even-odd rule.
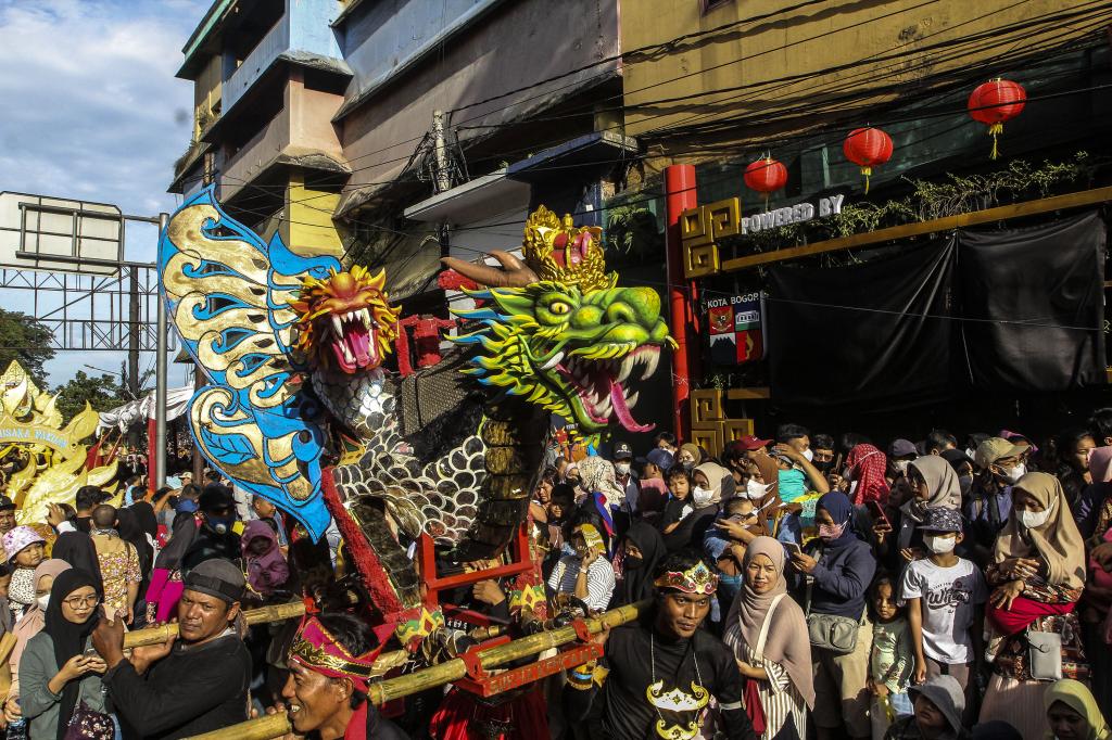
[[989, 588], [973, 562], [954, 554], [962, 541], [960, 511], [930, 509], [919, 529], [930, 554], [909, 563], [901, 584], [915, 649], [914, 679], [922, 683], [935, 676], [954, 677], [965, 692], [966, 712], [972, 712], [982, 640], [971, 628], [981, 623]]

